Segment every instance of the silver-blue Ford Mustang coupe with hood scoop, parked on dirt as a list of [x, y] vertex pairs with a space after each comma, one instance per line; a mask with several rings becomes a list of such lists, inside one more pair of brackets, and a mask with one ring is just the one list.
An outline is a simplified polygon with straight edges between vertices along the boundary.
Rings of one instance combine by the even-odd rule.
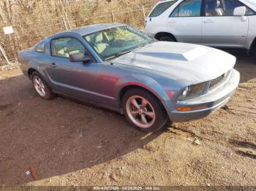
[[157, 42], [122, 24], [76, 28], [18, 54], [38, 95], [97, 104], [147, 132], [206, 117], [238, 87], [236, 58], [210, 47]]

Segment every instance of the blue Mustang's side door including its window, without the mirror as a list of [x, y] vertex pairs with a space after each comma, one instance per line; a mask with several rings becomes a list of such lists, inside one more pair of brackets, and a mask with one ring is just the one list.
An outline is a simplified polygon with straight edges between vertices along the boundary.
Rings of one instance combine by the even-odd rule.
[[86, 47], [74, 37], [61, 37], [50, 42], [50, 63], [47, 73], [55, 90], [88, 101], [97, 101], [97, 63], [71, 62], [69, 56], [78, 52], [88, 54]]

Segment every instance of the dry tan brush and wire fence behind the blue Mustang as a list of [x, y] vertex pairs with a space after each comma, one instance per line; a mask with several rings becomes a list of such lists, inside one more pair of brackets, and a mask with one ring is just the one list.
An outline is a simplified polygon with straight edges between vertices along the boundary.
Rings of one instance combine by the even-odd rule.
[[0, 64], [59, 31], [97, 23], [126, 23], [143, 28], [157, 0], [1, 0]]

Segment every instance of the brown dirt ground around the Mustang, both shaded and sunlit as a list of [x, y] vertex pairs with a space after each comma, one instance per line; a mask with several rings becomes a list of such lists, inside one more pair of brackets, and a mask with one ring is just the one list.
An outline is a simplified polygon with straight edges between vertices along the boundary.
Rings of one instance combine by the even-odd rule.
[[0, 184], [256, 186], [256, 58], [233, 54], [241, 84], [227, 106], [153, 134], [0, 71]]

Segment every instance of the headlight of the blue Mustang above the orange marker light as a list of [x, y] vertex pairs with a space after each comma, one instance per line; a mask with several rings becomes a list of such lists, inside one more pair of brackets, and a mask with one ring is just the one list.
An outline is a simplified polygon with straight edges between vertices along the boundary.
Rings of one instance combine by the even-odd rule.
[[201, 95], [206, 88], [206, 82], [200, 83], [198, 85], [190, 85], [186, 87], [185, 90], [178, 97], [179, 101], [195, 98], [197, 95]]

